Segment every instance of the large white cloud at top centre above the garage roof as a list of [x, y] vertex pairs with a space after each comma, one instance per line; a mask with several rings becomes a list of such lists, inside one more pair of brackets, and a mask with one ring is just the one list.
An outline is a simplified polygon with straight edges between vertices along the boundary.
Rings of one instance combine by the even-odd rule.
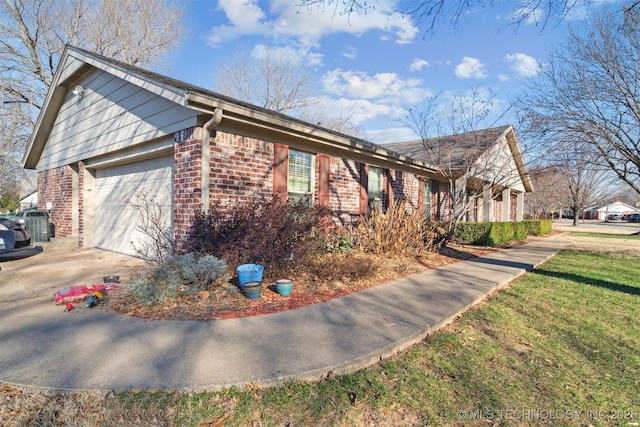
[[220, 0], [218, 9], [228, 24], [211, 29], [208, 41], [217, 46], [246, 35], [294, 38], [303, 46], [317, 46], [324, 36], [348, 33], [360, 36], [378, 30], [395, 43], [406, 44], [418, 34], [413, 22], [396, 11], [395, 0], [379, 0], [366, 13], [333, 14], [330, 8], [301, 8], [290, 0], [273, 0], [268, 11], [258, 0]]

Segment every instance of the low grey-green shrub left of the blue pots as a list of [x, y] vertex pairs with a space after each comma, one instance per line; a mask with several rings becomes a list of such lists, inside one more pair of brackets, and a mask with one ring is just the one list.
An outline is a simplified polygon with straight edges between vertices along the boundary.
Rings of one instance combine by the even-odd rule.
[[228, 280], [227, 264], [211, 255], [176, 256], [146, 276], [133, 279], [127, 290], [138, 302], [155, 305], [183, 295], [195, 295]]

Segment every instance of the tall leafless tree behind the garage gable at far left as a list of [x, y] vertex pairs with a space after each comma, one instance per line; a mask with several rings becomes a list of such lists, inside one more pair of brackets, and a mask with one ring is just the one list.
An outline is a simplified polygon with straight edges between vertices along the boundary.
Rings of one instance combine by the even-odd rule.
[[150, 66], [184, 31], [183, 7], [172, 0], [0, 0], [0, 134], [10, 139], [0, 145], [0, 169], [19, 175], [65, 45]]

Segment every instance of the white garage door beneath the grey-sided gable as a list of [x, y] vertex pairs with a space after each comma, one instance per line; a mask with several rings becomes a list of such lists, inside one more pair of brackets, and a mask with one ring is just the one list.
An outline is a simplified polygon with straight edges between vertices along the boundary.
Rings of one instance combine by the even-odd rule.
[[[96, 247], [138, 255], [152, 240], [136, 229], [141, 215], [132, 203], [145, 194], [161, 204], [167, 230], [172, 221], [173, 156], [96, 171]], [[140, 199], [138, 199], [140, 200]]]

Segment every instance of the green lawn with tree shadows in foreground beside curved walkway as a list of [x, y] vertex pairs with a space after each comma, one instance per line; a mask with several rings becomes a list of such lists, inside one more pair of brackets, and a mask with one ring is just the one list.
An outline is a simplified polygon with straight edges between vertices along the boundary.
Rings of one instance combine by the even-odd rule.
[[120, 393], [109, 417], [225, 426], [637, 426], [638, 261], [563, 251], [421, 344], [361, 372], [271, 389]]

